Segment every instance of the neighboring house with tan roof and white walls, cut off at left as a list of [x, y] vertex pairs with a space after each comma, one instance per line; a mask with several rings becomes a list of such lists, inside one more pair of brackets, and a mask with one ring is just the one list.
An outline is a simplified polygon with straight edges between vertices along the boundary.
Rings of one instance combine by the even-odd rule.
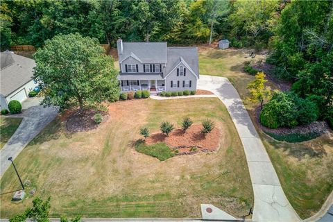
[[28, 93], [37, 86], [32, 79], [35, 61], [12, 52], [0, 54], [1, 109], [8, 109], [10, 101], [24, 101]]

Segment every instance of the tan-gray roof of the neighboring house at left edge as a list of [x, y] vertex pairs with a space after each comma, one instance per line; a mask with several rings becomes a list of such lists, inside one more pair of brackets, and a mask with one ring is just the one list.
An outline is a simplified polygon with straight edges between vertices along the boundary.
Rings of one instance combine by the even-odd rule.
[[35, 60], [13, 53], [1, 53], [0, 91], [8, 96], [33, 78]]

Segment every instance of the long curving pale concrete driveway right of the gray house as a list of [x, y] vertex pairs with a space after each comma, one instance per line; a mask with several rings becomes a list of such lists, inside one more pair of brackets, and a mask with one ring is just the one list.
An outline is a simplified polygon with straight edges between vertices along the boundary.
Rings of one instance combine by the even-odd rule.
[[227, 107], [237, 128], [253, 186], [253, 221], [300, 221], [284, 195], [278, 175], [237, 90], [228, 78], [200, 75], [198, 89], [214, 92]]

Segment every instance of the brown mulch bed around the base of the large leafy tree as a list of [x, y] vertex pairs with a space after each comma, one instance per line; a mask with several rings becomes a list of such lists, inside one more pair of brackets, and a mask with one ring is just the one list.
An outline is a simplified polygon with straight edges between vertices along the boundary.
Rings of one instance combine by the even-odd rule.
[[[101, 113], [103, 115], [103, 121], [96, 124], [94, 121], [94, 115]], [[75, 133], [80, 131], [87, 131], [97, 128], [100, 124], [108, 120], [108, 112], [100, 112], [96, 110], [79, 110], [71, 111], [67, 114], [66, 128], [69, 132]]]

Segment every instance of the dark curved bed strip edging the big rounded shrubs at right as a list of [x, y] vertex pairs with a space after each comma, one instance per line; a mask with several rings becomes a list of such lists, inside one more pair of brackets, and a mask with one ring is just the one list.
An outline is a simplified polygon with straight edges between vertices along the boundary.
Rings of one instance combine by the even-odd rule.
[[267, 128], [262, 126], [260, 123], [260, 107], [255, 108], [255, 121], [257, 126], [262, 129], [265, 133], [273, 133], [275, 135], [290, 135], [290, 134], [309, 134], [309, 133], [318, 133], [323, 135], [324, 133], [329, 132], [330, 128], [325, 121], [315, 121], [305, 126], [296, 126], [294, 128], [280, 127], [276, 129]]

